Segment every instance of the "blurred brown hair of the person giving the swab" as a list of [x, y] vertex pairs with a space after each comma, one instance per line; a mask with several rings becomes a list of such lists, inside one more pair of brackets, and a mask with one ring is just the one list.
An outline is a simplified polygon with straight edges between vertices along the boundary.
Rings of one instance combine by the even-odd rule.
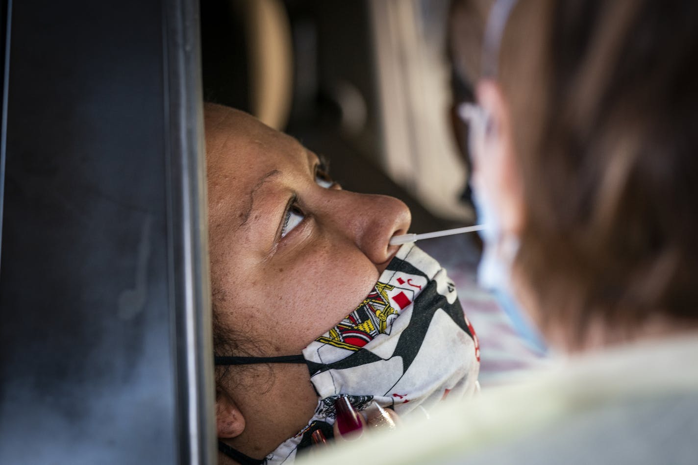
[[698, 6], [521, 0], [500, 51], [540, 310], [584, 338], [698, 320]]

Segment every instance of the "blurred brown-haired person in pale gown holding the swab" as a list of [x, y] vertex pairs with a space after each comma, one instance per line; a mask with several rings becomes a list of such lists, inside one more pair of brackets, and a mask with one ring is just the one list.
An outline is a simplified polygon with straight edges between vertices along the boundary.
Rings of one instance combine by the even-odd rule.
[[560, 364], [354, 446], [364, 462], [695, 463], [695, 57], [696, 3], [494, 3], [461, 108], [478, 273]]

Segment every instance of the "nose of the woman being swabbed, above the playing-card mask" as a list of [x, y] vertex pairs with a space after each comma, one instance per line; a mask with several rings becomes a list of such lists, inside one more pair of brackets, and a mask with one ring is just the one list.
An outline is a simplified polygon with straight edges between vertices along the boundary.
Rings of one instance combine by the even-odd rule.
[[389, 245], [394, 235], [406, 234], [412, 215], [401, 200], [387, 195], [342, 191], [344, 205], [336, 210], [342, 227], [355, 244], [383, 271], [399, 246]]

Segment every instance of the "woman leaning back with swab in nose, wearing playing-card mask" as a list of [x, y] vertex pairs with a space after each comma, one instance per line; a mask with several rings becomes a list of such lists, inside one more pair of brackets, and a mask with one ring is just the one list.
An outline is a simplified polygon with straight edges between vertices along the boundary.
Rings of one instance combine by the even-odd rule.
[[454, 284], [389, 245], [410, 226], [403, 202], [341, 189], [244, 112], [205, 105], [205, 135], [219, 463], [290, 463], [477, 389]]

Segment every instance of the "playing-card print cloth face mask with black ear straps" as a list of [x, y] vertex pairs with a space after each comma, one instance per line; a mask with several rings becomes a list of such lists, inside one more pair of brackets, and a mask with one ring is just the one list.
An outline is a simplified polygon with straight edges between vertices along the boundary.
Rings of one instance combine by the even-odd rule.
[[477, 390], [480, 349], [446, 271], [414, 244], [404, 244], [364, 302], [302, 355], [216, 357], [216, 364], [269, 362], [306, 363], [318, 406], [307, 427], [264, 461], [219, 443], [238, 462], [290, 463], [316, 429], [331, 437], [339, 396], [358, 411], [376, 402], [404, 418], [446, 396], [471, 394]]

